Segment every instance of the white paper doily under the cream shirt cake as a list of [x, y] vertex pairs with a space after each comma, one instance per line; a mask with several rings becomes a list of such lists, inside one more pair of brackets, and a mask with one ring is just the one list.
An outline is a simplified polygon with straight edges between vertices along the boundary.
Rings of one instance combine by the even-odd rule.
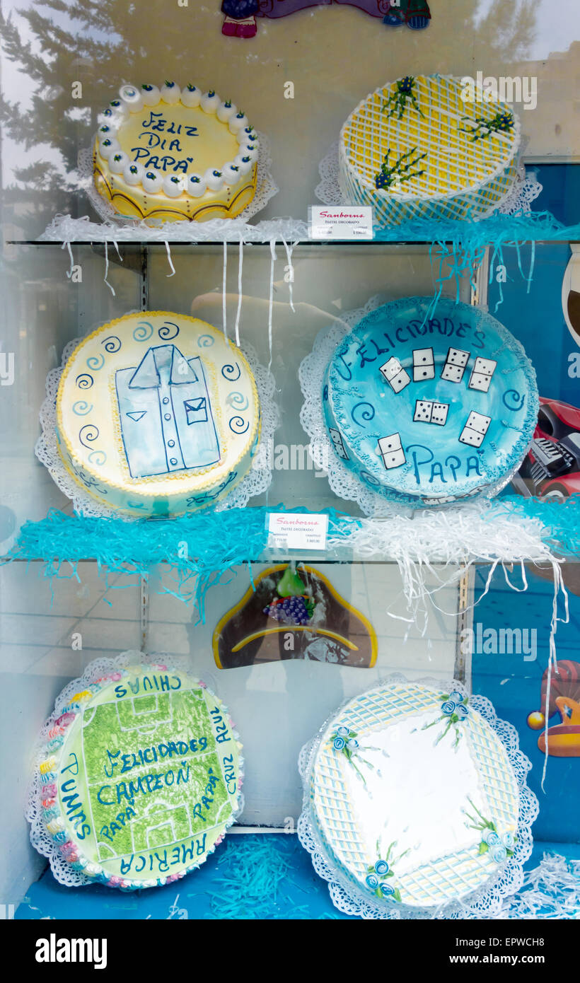
[[[128, 313], [132, 314], [133, 312]], [[101, 504], [92, 498], [71, 477], [58, 452], [58, 441], [56, 438], [56, 395], [58, 384], [67, 360], [82, 340], [82, 338], [75, 338], [73, 341], [70, 341], [65, 346], [62, 363], [59, 368], [52, 369], [48, 373], [48, 376], [46, 376], [46, 398], [42, 403], [39, 414], [42, 434], [40, 434], [36, 441], [34, 453], [38, 460], [48, 468], [61, 492], [66, 494], [67, 498], [72, 499], [73, 507], [78, 514], [95, 517], [122, 518], [128, 522], [134, 522], [137, 517], [125, 515], [117, 509]], [[261, 365], [256, 350], [251, 344], [243, 341], [240, 349], [250, 363], [250, 368], [252, 369], [258, 388], [261, 410], [260, 442], [250, 471], [229, 494], [213, 506], [217, 512], [222, 511], [224, 508], [243, 508], [254, 495], [265, 492], [272, 480], [271, 468], [263, 467], [261, 463], [264, 461], [267, 462], [268, 460], [265, 448], [268, 447], [268, 441], [272, 439], [280, 420], [280, 411], [274, 400], [274, 377], [265, 366]]]

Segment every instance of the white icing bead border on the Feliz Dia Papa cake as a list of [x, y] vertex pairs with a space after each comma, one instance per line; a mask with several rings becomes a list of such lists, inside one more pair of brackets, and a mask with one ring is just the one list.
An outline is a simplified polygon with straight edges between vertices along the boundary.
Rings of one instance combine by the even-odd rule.
[[[159, 98], [156, 102], [150, 102], [150, 101], [145, 102], [144, 96], [141, 91], [144, 86], [150, 87], [151, 92], [154, 94], [158, 92]], [[171, 99], [164, 98], [163, 95], [165, 94], [165, 96], [168, 96], [170, 91], [175, 92], [177, 97], [176, 98], [172, 97]], [[188, 96], [186, 96], [188, 101], [184, 101], [183, 97], [185, 93], [190, 93]], [[198, 93], [200, 93], [199, 97], [198, 97]], [[139, 96], [139, 98], [137, 98], [137, 96]], [[223, 178], [223, 174], [222, 174], [225, 168], [227, 167], [228, 170], [231, 171], [233, 167], [241, 167], [241, 163], [243, 162], [242, 158], [250, 157], [250, 161], [251, 161], [250, 167], [246, 171], [240, 170], [237, 180], [235, 182], [232, 182], [232, 184], [237, 184], [238, 181], [241, 181], [242, 178], [245, 177], [245, 175], [249, 172], [252, 165], [254, 163], [257, 163], [260, 158], [259, 134], [255, 130], [255, 128], [251, 125], [251, 123], [249, 123], [248, 117], [243, 112], [243, 110], [238, 110], [238, 107], [234, 105], [234, 103], [230, 99], [225, 99], [225, 100], [220, 99], [220, 97], [217, 95], [215, 90], [212, 88], [208, 89], [206, 92], [202, 92], [201, 88], [194, 86], [192, 83], [188, 84], [188, 86], [184, 87], [183, 89], [177, 86], [173, 82], [171, 83], [166, 82], [160, 89], [157, 86], [150, 86], [149, 83], [144, 83], [141, 87], [132, 86], [130, 84], [122, 85], [119, 88], [119, 98], [112, 99], [111, 102], [109, 102], [109, 105], [106, 107], [106, 109], [104, 109], [98, 115], [98, 122], [100, 125], [94, 137], [95, 150], [98, 150], [98, 153], [102, 157], [102, 159], [108, 162], [109, 157], [113, 152], [116, 151], [121, 152], [121, 147], [117, 140], [117, 133], [119, 130], [119, 126], [122, 125], [124, 121], [130, 119], [132, 113], [141, 112], [141, 110], [145, 106], [150, 108], [158, 105], [171, 106], [171, 105], [177, 105], [178, 102], [180, 102], [182, 106], [185, 106], [188, 109], [193, 109], [196, 108], [197, 106], [200, 106], [203, 109], [203, 112], [206, 113], [207, 115], [216, 116], [218, 121], [222, 123], [223, 126], [227, 126], [229, 132], [236, 137], [238, 141], [238, 145], [240, 147], [239, 152], [234, 158], [234, 160], [224, 160], [221, 163], [216, 164], [215, 167], [210, 166], [206, 169], [204, 175], [188, 174], [188, 175], [179, 176], [178, 177], [179, 187], [180, 187], [179, 194], [181, 195], [182, 193], [185, 193], [186, 195], [188, 195], [188, 197], [192, 199], [200, 198], [201, 195], [204, 194], [206, 187], [203, 187], [203, 192], [201, 194], [193, 195], [188, 190], [189, 180], [192, 177], [198, 177], [200, 178], [200, 184], [202, 186], [204, 184], [205, 186], [208, 186], [209, 185], [208, 175], [209, 175], [209, 180], [212, 175], [214, 175], [216, 179], [218, 176], [219, 178], [221, 178], [221, 182], [218, 185], [216, 185], [216, 187], [211, 188], [212, 191], [220, 191], [224, 184], [228, 184], [228, 182]], [[234, 113], [236, 114], [235, 116], [233, 115]], [[99, 134], [104, 134], [104, 135], [103, 137], [99, 137]], [[103, 146], [105, 151], [104, 153], [103, 153]], [[238, 159], [238, 157], [240, 158], [240, 163], [236, 164], [236, 160]], [[127, 167], [131, 165], [136, 165], [136, 161], [129, 160], [128, 158]], [[109, 169], [111, 168], [109, 167]], [[121, 168], [120, 173], [123, 173], [124, 169], [125, 169], [124, 167]], [[152, 188], [145, 189], [143, 184], [143, 179], [145, 176], [146, 176], [145, 174], [140, 176], [139, 180], [133, 183], [132, 186], [133, 187], [141, 186], [141, 188], [143, 188], [143, 190], [146, 191], [148, 194], [162, 193], [167, 195], [167, 191], [165, 189], [165, 181], [171, 180], [172, 178], [171, 174], [165, 174], [165, 173], [159, 174], [159, 177], [161, 179], [161, 186], [157, 189], [152, 189]], [[176, 175], [173, 175], [173, 177], [175, 176]], [[125, 178], [125, 180], [127, 181], [127, 178]], [[127, 183], [132, 184], [129, 181], [127, 181]], [[215, 184], [215, 181], [213, 183]], [[175, 197], [175, 196], [170, 196], [170, 197]]]

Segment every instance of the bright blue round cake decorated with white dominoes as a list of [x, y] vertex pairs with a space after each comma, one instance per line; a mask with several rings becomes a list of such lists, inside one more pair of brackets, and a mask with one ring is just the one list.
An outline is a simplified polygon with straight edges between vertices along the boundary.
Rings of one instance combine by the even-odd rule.
[[338, 344], [322, 384], [345, 467], [419, 506], [498, 492], [538, 415], [534, 370], [509, 331], [480, 308], [446, 298], [432, 307], [409, 297], [377, 308]]

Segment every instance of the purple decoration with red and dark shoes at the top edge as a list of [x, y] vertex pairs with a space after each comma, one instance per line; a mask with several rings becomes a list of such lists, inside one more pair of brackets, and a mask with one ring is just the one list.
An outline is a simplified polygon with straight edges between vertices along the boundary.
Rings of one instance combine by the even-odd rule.
[[329, 7], [335, 3], [357, 7], [370, 17], [381, 18], [391, 28], [406, 24], [412, 30], [421, 30], [428, 28], [431, 20], [427, 0], [223, 0], [221, 32], [227, 37], [255, 37], [257, 17], [287, 17], [311, 7]]

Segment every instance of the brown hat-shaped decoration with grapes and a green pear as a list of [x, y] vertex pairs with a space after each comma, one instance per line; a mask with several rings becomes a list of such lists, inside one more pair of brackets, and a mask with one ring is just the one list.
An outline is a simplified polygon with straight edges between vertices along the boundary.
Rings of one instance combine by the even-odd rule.
[[308, 659], [369, 667], [377, 660], [377, 635], [312, 566], [283, 563], [263, 570], [213, 632], [220, 668]]

